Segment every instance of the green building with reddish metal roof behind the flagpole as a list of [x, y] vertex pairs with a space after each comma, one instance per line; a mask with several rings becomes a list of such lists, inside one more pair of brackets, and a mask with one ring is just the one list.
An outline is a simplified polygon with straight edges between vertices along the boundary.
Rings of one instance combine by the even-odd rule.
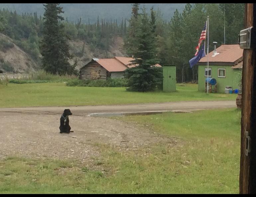
[[[226, 86], [239, 89], [239, 72], [243, 67], [243, 49], [239, 44], [221, 45], [209, 52], [209, 70], [207, 69], [207, 55], [198, 64], [198, 91], [205, 91], [205, 80], [209, 78], [217, 81], [217, 93], [225, 93]], [[209, 72], [209, 73], [207, 73]]]

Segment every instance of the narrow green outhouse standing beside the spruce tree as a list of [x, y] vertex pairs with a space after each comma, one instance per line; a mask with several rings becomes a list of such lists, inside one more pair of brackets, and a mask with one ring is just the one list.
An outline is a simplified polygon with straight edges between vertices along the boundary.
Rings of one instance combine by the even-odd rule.
[[163, 65], [163, 91], [176, 91], [176, 66]]

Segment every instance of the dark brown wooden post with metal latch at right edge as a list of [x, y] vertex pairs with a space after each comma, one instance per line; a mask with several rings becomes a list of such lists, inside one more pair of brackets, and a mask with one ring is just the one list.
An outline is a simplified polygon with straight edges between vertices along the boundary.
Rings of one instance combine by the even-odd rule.
[[[256, 4], [245, 4], [245, 29], [256, 29]], [[251, 36], [254, 42], [255, 36]], [[244, 49], [242, 71], [242, 117], [240, 194], [256, 193], [256, 68], [255, 47]], [[250, 146], [251, 144], [251, 146]]]

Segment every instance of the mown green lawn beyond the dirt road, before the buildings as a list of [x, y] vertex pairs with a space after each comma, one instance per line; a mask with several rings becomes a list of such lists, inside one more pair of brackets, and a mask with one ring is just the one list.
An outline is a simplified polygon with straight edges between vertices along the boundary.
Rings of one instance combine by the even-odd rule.
[[196, 84], [177, 84], [177, 92], [127, 92], [125, 88], [67, 87], [64, 83], [0, 86], [0, 107], [109, 105], [192, 100], [235, 100], [235, 94], [205, 94]]

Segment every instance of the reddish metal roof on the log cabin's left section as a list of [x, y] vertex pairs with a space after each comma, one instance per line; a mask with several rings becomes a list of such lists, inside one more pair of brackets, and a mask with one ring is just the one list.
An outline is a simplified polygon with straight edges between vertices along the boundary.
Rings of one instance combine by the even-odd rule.
[[116, 59], [98, 59], [96, 60], [103, 68], [105, 68], [108, 72], [121, 72], [127, 69], [121, 62]]

